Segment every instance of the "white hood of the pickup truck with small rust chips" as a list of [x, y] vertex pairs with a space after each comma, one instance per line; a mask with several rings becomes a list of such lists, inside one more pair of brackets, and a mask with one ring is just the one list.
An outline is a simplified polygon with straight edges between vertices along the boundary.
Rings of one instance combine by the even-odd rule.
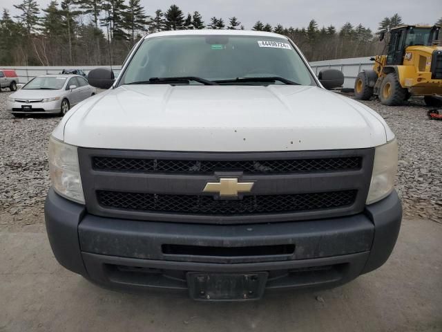
[[80, 147], [218, 152], [356, 149], [394, 137], [354, 100], [283, 85], [119, 86], [69, 111], [53, 135]]

